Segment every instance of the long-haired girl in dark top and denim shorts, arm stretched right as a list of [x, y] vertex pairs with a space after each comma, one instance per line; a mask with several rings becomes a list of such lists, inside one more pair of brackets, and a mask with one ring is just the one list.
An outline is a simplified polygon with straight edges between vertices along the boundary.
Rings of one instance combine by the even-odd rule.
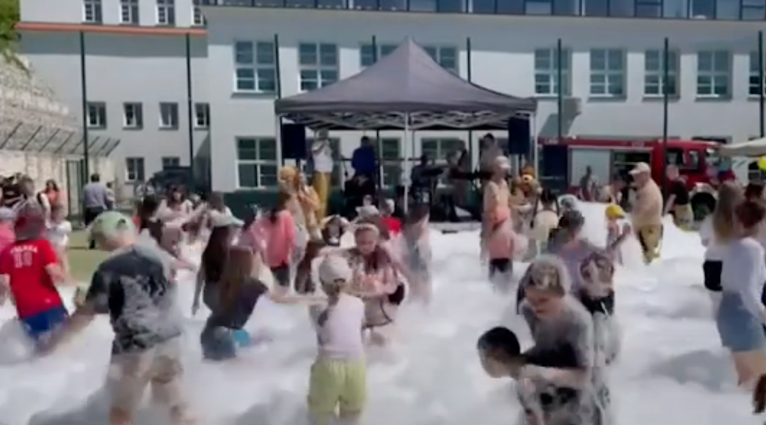
[[216, 285], [218, 304], [211, 310], [200, 335], [202, 355], [208, 360], [228, 360], [237, 356], [234, 334], [243, 332], [241, 329], [250, 320], [261, 297], [284, 304], [313, 300], [271, 292], [263, 282], [253, 277], [254, 256], [248, 248], [229, 247], [227, 258], [224, 273]]

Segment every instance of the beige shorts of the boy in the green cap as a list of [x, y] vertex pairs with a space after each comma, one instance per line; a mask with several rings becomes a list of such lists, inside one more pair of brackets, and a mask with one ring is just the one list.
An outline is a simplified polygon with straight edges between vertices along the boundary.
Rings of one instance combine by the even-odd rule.
[[181, 337], [141, 352], [113, 354], [110, 391], [113, 409], [133, 413], [151, 385], [155, 401], [172, 408], [186, 407], [183, 395]]

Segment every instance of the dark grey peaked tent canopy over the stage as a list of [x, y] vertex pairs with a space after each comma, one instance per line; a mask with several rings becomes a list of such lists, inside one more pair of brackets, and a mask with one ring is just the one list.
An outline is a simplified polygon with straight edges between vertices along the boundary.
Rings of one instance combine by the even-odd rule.
[[277, 115], [339, 130], [508, 128], [535, 112], [534, 98], [477, 86], [445, 70], [411, 38], [362, 72], [275, 102]]

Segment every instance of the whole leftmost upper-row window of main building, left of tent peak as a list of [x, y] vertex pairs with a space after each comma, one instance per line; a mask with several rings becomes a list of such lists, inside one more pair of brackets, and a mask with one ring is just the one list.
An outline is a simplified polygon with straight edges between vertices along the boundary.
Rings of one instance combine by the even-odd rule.
[[277, 53], [271, 42], [234, 42], [234, 90], [273, 93], [277, 91]]

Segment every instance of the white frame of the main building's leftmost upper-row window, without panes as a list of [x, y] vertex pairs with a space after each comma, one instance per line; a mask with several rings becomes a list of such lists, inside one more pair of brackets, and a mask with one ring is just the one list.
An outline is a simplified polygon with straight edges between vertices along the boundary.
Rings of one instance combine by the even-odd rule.
[[[240, 46], [249, 46], [249, 53], [247, 51], [239, 50]], [[234, 61], [234, 92], [238, 93], [258, 93], [258, 94], [275, 94], [277, 92], [277, 84], [280, 83], [279, 76], [277, 76], [277, 45], [273, 41], [253, 41], [253, 40], [235, 40], [232, 47], [233, 61]], [[272, 63], [262, 63], [259, 60], [258, 51], [260, 47], [268, 49], [271, 52]], [[249, 61], [241, 62], [240, 58], [244, 56], [250, 56]], [[252, 77], [247, 78], [240, 75], [241, 70], [248, 70], [252, 73]], [[269, 73], [270, 75], [266, 75]], [[273, 89], [263, 89], [261, 81], [267, 80], [265, 76], [269, 76], [273, 83]], [[241, 88], [241, 82], [252, 80], [253, 89]]]

